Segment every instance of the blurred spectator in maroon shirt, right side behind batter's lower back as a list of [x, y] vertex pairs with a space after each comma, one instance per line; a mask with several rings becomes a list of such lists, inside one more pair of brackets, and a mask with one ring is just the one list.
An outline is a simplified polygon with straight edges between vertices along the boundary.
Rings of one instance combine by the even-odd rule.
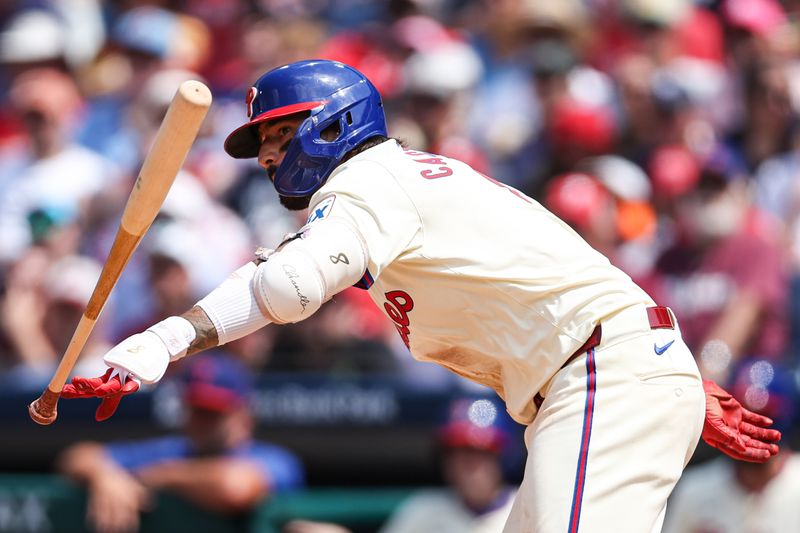
[[[787, 348], [786, 256], [753, 207], [746, 171], [722, 149], [675, 198], [678, 240], [645, 289], [679, 316], [701, 373], [724, 381], [745, 354], [778, 359]], [[757, 258], [757, 259], [756, 259]]]

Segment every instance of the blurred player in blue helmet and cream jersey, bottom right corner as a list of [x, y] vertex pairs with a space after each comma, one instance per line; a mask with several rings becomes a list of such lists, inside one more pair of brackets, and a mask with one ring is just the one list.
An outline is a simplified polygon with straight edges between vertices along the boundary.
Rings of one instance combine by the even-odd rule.
[[763, 464], [719, 457], [690, 467], [667, 505], [665, 533], [778, 533], [800, 531], [800, 454], [790, 448], [797, 409], [796, 376], [766, 360], [748, 360], [732, 393], [749, 409], [775, 420], [781, 452]]

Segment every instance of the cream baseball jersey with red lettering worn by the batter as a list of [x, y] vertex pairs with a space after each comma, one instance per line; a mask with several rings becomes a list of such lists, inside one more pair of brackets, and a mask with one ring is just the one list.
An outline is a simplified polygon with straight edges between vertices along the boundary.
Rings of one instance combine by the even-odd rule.
[[604, 317], [651, 298], [566, 223], [468, 165], [389, 140], [340, 165], [308, 222], [366, 243], [359, 286], [412, 355], [487, 385], [521, 423]]

